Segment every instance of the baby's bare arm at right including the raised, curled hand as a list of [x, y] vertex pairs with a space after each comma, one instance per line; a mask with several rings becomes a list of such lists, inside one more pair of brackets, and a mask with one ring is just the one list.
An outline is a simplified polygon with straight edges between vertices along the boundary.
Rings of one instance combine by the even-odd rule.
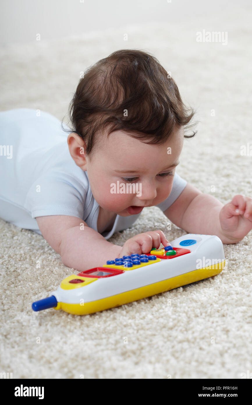
[[251, 197], [237, 194], [223, 205], [191, 184], [164, 213], [188, 233], [217, 235], [226, 244], [241, 241], [252, 229]]

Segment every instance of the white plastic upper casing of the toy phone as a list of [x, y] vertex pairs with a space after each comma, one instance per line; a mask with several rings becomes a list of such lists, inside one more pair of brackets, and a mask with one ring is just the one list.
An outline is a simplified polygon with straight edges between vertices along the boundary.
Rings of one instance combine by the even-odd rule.
[[[194, 239], [197, 243], [188, 246], [180, 245], [180, 242], [188, 239]], [[187, 234], [170, 243], [172, 247], [189, 249], [191, 253], [171, 259], [161, 259], [161, 262], [152, 263], [134, 270], [125, 270], [124, 273], [111, 277], [99, 278], [86, 286], [72, 290], [63, 290], [59, 286], [52, 295], [55, 296], [58, 302], [69, 304], [79, 303], [80, 299], [85, 302], [97, 301], [221, 263], [225, 260], [222, 241], [215, 235]], [[106, 263], [104, 262], [104, 264]], [[205, 278], [207, 278], [208, 270], [205, 271]]]

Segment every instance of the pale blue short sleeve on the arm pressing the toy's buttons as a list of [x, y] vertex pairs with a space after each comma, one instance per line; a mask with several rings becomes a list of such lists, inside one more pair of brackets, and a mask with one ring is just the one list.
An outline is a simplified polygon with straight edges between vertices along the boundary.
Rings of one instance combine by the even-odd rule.
[[24, 208], [32, 218], [46, 215], [71, 215], [83, 219], [87, 190], [66, 173], [50, 172], [30, 187]]

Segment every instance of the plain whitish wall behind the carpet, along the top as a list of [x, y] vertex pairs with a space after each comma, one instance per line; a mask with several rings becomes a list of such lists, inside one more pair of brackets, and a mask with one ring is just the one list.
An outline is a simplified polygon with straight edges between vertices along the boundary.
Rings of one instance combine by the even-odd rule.
[[[209, 17], [251, 0], [0, 0], [0, 45], [59, 39], [84, 32], [126, 28], [152, 21], [178, 22]], [[150, 27], [151, 29], [151, 27]], [[220, 30], [224, 30], [221, 28]]]

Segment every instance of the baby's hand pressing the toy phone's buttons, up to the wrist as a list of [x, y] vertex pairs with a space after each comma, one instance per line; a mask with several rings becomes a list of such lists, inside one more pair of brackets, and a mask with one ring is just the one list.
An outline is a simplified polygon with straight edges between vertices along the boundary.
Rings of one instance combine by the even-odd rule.
[[132, 253], [150, 253], [153, 247], [158, 249], [160, 243], [162, 243], [163, 246], [171, 245], [161, 230], [140, 233], [125, 242], [119, 254], [119, 258], [129, 256]]

